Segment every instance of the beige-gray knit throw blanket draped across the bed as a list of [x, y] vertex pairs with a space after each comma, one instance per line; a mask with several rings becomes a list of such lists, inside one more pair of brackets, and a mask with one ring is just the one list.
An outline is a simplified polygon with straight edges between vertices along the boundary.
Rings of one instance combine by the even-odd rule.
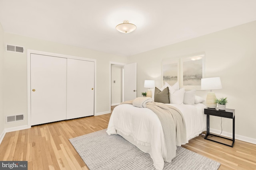
[[[150, 98], [151, 99], [151, 98]], [[176, 146], [186, 143], [186, 123], [179, 109], [163, 103], [153, 102], [149, 98], [136, 98], [122, 102], [121, 104], [132, 104], [135, 107], [146, 107], [151, 109], [158, 116], [164, 131], [167, 156], [166, 162], [172, 162], [176, 156]]]

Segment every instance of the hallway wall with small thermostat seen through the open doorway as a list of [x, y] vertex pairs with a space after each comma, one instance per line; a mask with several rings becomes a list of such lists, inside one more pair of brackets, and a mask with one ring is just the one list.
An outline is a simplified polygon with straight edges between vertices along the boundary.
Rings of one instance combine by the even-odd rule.
[[[122, 102], [122, 66], [111, 66], [111, 105]], [[115, 83], [114, 83], [115, 81]]]

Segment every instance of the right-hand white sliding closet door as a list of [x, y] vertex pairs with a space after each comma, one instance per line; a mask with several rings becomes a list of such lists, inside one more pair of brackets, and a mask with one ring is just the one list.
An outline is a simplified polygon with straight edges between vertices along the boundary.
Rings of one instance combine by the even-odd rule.
[[94, 115], [94, 62], [67, 62], [67, 119]]

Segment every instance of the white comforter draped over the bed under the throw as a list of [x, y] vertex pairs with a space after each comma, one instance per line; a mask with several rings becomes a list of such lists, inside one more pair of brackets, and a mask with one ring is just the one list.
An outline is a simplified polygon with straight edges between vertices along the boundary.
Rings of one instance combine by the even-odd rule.
[[[206, 130], [204, 104], [168, 104], [177, 107], [186, 122], [187, 143]], [[157, 170], [164, 168], [166, 148], [162, 125], [157, 115], [148, 108], [134, 107], [131, 104], [116, 106], [108, 123], [108, 135], [119, 134], [143, 152], [150, 154]]]

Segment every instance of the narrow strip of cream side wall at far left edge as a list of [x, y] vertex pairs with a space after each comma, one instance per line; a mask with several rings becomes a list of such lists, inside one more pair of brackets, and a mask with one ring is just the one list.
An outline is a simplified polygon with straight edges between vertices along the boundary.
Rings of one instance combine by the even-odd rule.
[[0, 143], [4, 133], [4, 30], [0, 23]]

